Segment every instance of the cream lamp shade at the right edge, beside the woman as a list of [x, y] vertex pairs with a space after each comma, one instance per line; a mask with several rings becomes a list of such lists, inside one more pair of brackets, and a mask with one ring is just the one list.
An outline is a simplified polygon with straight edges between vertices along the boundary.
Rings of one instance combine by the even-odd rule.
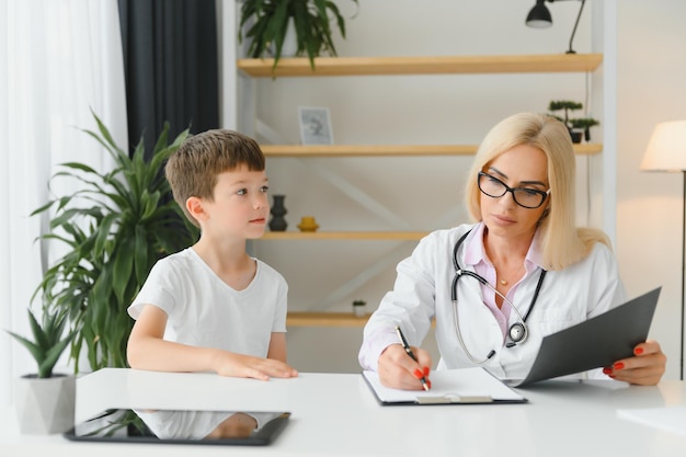
[[686, 121], [663, 122], [655, 126], [641, 170], [686, 171]]

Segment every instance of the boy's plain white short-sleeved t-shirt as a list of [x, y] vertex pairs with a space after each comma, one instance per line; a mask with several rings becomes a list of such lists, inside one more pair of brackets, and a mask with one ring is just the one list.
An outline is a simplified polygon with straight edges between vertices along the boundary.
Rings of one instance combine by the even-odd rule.
[[155, 264], [128, 313], [137, 319], [153, 305], [168, 316], [165, 340], [266, 357], [271, 333], [286, 331], [288, 285], [255, 262], [250, 285], [235, 290], [192, 248], [171, 254]]

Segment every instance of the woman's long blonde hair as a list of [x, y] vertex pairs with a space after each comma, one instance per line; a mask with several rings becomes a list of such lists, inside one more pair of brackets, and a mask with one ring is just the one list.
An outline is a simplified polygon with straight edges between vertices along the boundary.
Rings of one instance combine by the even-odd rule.
[[542, 261], [547, 270], [562, 270], [584, 259], [596, 242], [611, 249], [608, 237], [598, 229], [576, 227], [576, 163], [570, 134], [554, 117], [518, 113], [498, 123], [487, 134], [475, 157], [466, 182], [466, 205], [475, 221], [481, 220], [478, 173], [500, 155], [519, 145], [540, 149], [548, 161], [550, 195], [539, 220]]

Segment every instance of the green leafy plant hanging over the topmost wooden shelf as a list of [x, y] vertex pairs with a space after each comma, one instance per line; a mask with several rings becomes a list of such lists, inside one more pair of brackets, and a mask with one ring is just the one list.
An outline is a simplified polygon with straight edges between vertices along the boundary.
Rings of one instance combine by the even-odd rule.
[[[357, 3], [357, 0], [352, 0]], [[295, 27], [296, 56], [307, 54], [312, 70], [315, 57], [322, 53], [336, 56], [331, 20], [345, 38], [345, 20], [331, 0], [241, 0], [239, 42], [250, 38], [248, 55], [253, 58], [273, 53], [276, 68], [284, 49], [288, 24]], [[252, 21], [252, 22], [251, 22]]]

